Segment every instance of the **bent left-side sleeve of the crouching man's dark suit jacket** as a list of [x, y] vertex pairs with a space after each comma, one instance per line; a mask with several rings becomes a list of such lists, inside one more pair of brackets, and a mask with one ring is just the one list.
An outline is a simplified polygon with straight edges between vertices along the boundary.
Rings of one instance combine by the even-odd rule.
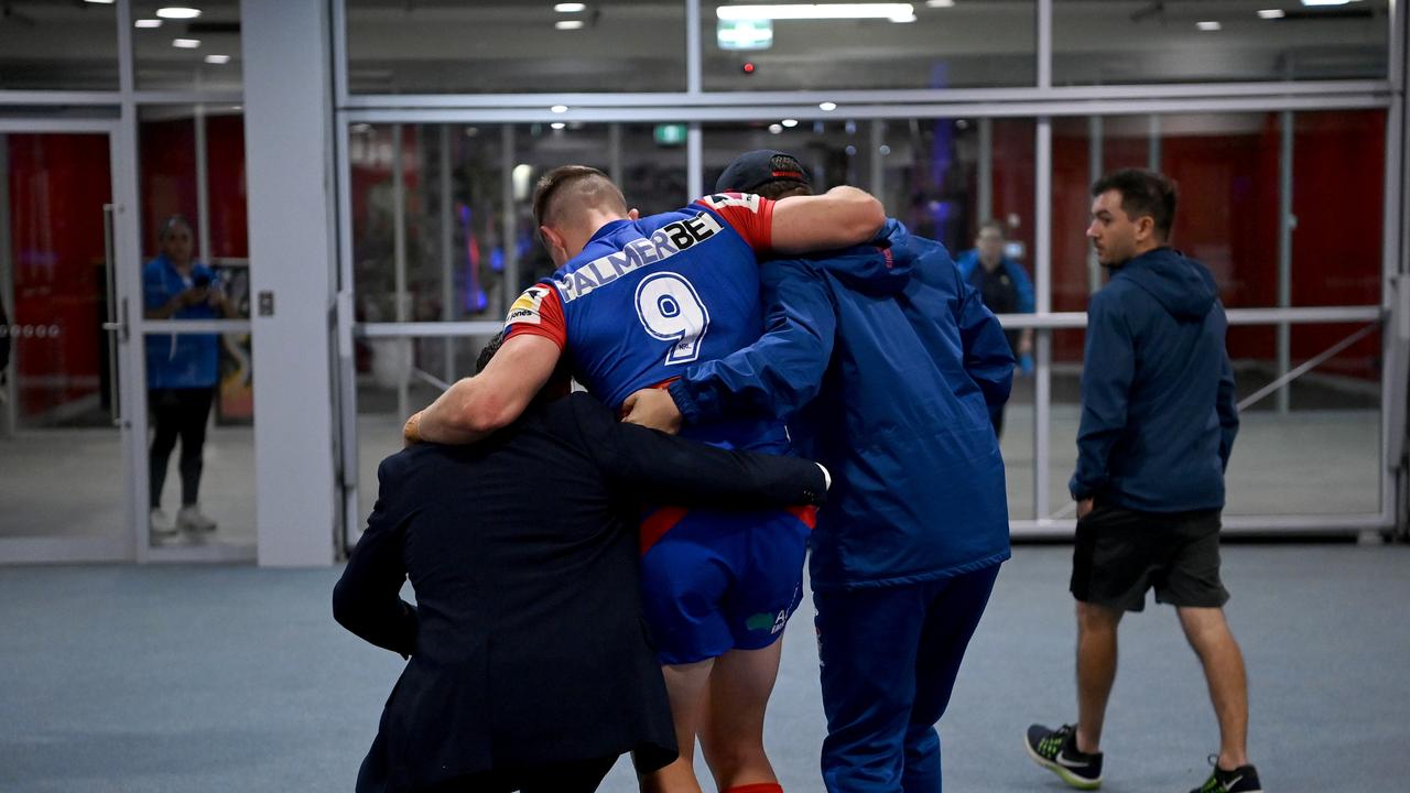
[[378, 497], [367, 531], [333, 587], [333, 618], [368, 642], [409, 658], [416, 652], [416, 607], [400, 598], [402, 545], [410, 515], [402, 509], [398, 457], [376, 468]]

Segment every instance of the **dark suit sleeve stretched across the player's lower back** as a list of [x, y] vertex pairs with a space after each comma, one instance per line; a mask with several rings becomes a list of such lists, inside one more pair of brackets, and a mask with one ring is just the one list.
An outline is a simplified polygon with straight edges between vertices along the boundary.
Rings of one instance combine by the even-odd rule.
[[570, 399], [588, 453], [623, 495], [726, 509], [816, 505], [826, 498], [826, 481], [816, 463], [715, 449], [619, 423], [589, 396]]

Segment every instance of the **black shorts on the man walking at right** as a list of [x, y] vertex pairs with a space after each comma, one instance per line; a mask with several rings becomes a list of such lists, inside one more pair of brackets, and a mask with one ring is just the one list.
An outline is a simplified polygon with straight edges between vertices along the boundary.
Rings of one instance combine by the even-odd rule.
[[1138, 512], [1101, 505], [1077, 521], [1072, 594], [1083, 603], [1142, 611], [1156, 603], [1218, 608], [1230, 593], [1220, 581], [1220, 509]]

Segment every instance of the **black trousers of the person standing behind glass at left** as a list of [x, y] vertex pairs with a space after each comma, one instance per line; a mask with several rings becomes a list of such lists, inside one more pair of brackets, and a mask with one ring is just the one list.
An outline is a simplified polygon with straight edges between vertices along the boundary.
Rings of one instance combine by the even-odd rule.
[[155, 426], [151, 453], [147, 457], [152, 509], [162, 505], [166, 466], [178, 437], [180, 437], [180, 504], [182, 507], [196, 504], [200, 494], [206, 420], [210, 419], [210, 404], [214, 396], [213, 387], [154, 388], [147, 392], [147, 405]]

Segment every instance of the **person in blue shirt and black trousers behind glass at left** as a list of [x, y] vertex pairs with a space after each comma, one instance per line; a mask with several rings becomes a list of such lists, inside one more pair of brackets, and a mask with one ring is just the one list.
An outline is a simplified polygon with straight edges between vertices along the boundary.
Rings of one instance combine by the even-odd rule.
[[[217, 319], [235, 316], [216, 274], [195, 261], [190, 223], [173, 214], [158, 231], [161, 254], [142, 268], [147, 319]], [[219, 337], [214, 333], [147, 336], [147, 405], [154, 419], [148, 453], [151, 532], [154, 540], [180, 531], [210, 533], [216, 522], [200, 511], [200, 473], [206, 422], [219, 380]], [[162, 487], [176, 440], [180, 439], [180, 509], [175, 519], [162, 509]]]

